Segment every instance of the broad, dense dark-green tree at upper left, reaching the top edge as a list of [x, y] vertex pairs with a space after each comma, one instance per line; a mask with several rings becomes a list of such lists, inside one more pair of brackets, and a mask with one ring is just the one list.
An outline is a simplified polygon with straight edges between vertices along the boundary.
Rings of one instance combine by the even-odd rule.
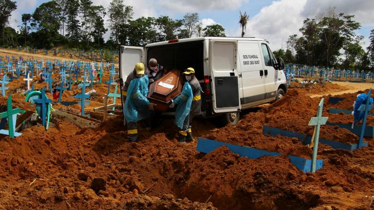
[[58, 30], [61, 28], [60, 13], [61, 8], [55, 0], [40, 4], [33, 13], [38, 47], [51, 48], [58, 41]]

